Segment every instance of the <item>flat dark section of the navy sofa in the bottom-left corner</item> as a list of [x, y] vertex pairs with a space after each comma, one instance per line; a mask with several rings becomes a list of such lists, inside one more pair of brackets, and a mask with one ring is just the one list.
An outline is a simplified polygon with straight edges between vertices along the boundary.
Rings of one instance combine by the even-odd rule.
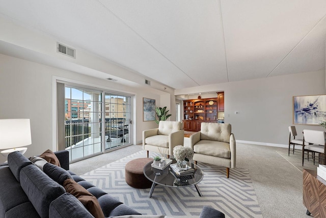
[[5, 217], [7, 211], [29, 202], [29, 198], [8, 166], [0, 167], [0, 181], [0, 217]]

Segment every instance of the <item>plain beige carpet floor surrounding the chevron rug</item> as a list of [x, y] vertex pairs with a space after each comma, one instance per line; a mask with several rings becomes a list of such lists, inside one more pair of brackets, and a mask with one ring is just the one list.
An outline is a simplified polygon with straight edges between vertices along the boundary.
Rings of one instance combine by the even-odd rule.
[[[72, 163], [70, 170], [77, 175], [83, 175], [141, 150], [141, 145], [128, 146]], [[150, 152], [150, 156], [153, 155]], [[317, 164], [313, 165], [312, 161], [305, 160], [305, 165], [302, 167], [301, 158], [301, 153], [291, 153], [288, 156], [286, 148], [237, 143], [237, 168], [248, 170], [263, 217], [311, 217], [306, 215], [307, 209], [302, 203], [302, 171], [304, 168], [316, 170]], [[234, 170], [230, 169], [230, 178], [233, 178], [233, 174]], [[108, 189], [108, 193], [112, 191], [114, 189]], [[155, 192], [157, 192], [156, 188], [153, 197], [157, 197]], [[148, 200], [147, 196], [147, 193], [144, 193], [144, 201]], [[129, 203], [130, 196], [121, 195], [119, 198]], [[141, 206], [143, 201], [138, 203], [137, 206]], [[161, 208], [162, 211], [170, 209], [173, 208]], [[230, 211], [233, 209], [226, 208]], [[150, 214], [150, 211], [148, 213]]]

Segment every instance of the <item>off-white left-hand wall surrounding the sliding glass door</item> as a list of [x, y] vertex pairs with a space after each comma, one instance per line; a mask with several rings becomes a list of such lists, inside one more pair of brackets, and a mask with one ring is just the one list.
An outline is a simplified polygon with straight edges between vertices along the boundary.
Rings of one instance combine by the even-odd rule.
[[[155, 94], [156, 92], [122, 86], [104, 79], [1, 54], [0, 66], [0, 119], [31, 119], [32, 145], [28, 146], [26, 157], [38, 155], [46, 149], [54, 150], [52, 132], [56, 130], [53, 128], [56, 124], [52, 122], [52, 116], [56, 114], [56, 107], [53, 106], [52, 95], [55, 87], [52, 85], [55, 84], [53, 80], [58, 77], [84, 85], [134, 94], [136, 111], [133, 117], [133, 124], [135, 124], [133, 143], [142, 142], [143, 130], [157, 127], [154, 121], [143, 122], [143, 97], [155, 99], [157, 105], [162, 106], [160, 105], [161, 95]], [[167, 95], [170, 96], [170, 94], [164, 94], [165, 101], [167, 101]], [[172, 97], [174, 99], [174, 96]], [[168, 101], [170, 102], [170, 99]], [[172, 109], [175, 111], [174, 107]], [[5, 160], [0, 156], [0, 162]]]

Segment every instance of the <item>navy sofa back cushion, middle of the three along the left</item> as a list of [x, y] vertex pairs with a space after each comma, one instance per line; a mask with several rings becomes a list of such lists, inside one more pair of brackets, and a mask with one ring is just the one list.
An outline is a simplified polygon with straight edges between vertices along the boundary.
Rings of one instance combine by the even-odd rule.
[[20, 185], [41, 217], [48, 217], [50, 203], [65, 193], [61, 185], [34, 165], [21, 169]]

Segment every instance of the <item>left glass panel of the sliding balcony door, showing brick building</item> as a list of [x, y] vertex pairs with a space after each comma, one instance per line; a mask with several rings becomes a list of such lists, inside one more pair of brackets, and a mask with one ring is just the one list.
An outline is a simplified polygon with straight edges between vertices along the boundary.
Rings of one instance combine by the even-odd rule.
[[65, 139], [70, 161], [102, 152], [102, 92], [65, 87]]

